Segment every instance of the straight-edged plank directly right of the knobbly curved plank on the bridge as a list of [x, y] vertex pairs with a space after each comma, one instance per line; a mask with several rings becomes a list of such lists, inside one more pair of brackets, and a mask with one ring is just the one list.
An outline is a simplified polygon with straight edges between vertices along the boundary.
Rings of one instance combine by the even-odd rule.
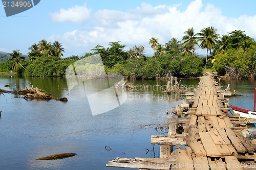
[[199, 136], [207, 156], [221, 157], [220, 151], [217, 149], [208, 132], [199, 132]]

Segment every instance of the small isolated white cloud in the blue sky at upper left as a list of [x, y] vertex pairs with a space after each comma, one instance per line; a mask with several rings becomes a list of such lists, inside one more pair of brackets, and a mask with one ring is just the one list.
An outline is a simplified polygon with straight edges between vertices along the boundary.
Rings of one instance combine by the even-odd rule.
[[58, 12], [52, 13], [49, 12], [49, 17], [53, 22], [78, 22], [84, 23], [88, 22], [91, 15], [91, 9], [86, 7], [86, 4], [83, 6], [74, 6], [67, 10], [61, 8]]

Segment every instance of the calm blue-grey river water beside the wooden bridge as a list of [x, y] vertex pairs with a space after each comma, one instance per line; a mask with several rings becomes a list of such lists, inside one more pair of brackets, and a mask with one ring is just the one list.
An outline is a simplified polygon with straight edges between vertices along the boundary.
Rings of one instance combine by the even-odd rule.
[[[1, 89], [20, 89], [32, 84], [55, 97], [66, 96], [68, 102], [26, 101], [14, 94], [0, 96], [0, 167], [1, 169], [123, 169], [105, 167], [116, 157], [159, 157], [159, 147], [151, 151], [154, 128], [137, 124], [164, 123], [179, 96], [161, 94], [166, 81], [131, 81], [148, 85], [127, 90], [123, 105], [93, 116], [86, 96], [72, 96], [65, 78], [0, 77]], [[92, 80], [92, 91], [101, 88], [102, 80]], [[196, 86], [198, 80], [181, 80], [187, 86]], [[242, 96], [230, 98], [230, 104], [253, 109], [254, 81], [224, 81]], [[4, 85], [10, 85], [10, 88]], [[152, 87], [152, 88], [151, 88]], [[90, 91], [89, 91], [90, 92]], [[68, 95], [69, 94], [69, 95]], [[106, 94], [107, 95], [107, 94]], [[103, 102], [104, 94], [98, 96]], [[114, 102], [114, 101], [113, 101]], [[106, 151], [105, 146], [111, 147]], [[146, 154], [146, 149], [150, 150]], [[59, 153], [77, 153], [59, 160], [34, 159]]]

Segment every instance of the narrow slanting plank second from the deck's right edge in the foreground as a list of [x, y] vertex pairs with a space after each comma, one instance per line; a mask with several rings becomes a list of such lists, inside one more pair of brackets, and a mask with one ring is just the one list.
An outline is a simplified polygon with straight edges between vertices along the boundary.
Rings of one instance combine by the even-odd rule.
[[228, 127], [225, 128], [225, 131], [233, 147], [237, 150], [237, 152], [246, 153], [247, 151], [246, 148], [242, 144], [241, 140], [236, 136], [236, 134], [234, 134], [234, 132]]

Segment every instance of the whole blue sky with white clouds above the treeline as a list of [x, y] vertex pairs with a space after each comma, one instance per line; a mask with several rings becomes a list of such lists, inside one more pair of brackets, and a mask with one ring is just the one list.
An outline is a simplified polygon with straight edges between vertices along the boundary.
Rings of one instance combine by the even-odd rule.
[[[193, 27], [196, 33], [215, 27], [221, 36], [234, 30], [256, 39], [256, 1], [210, 0], [41, 0], [33, 8], [6, 17], [0, 7], [0, 51], [28, 48], [42, 39], [61, 42], [64, 57], [89, 53], [97, 44], [121, 41], [125, 51], [143, 45], [145, 54], [153, 56], [148, 44], [152, 37], [165, 44], [181, 38]], [[198, 48], [198, 54], [206, 51]], [[206, 55], [206, 54], [205, 54]]]

